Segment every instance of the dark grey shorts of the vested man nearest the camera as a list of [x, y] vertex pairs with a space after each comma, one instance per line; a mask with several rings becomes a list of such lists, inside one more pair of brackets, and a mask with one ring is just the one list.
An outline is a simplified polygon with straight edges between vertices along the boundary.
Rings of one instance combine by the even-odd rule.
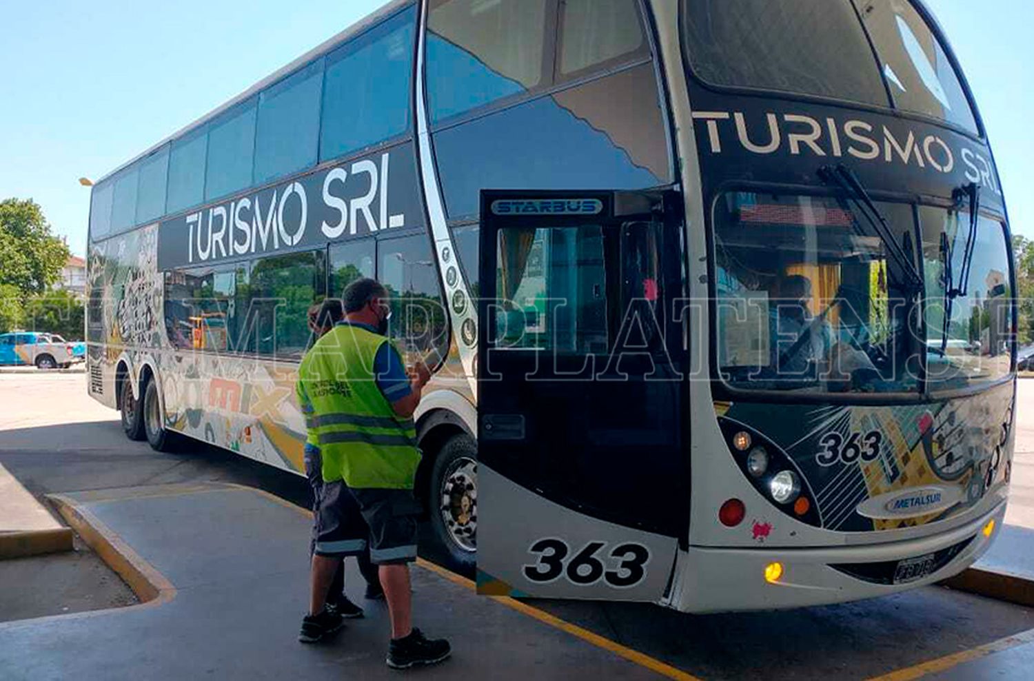
[[415, 561], [418, 519], [423, 507], [413, 491], [347, 489], [370, 528], [370, 560], [377, 565]]

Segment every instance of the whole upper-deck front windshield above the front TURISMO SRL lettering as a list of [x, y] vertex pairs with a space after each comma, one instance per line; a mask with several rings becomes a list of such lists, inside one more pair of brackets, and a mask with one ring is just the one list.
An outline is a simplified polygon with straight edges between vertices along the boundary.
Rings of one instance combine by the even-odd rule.
[[947, 52], [909, 0], [683, 2], [688, 61], [706, 83], [891, 105], [978, 132]]

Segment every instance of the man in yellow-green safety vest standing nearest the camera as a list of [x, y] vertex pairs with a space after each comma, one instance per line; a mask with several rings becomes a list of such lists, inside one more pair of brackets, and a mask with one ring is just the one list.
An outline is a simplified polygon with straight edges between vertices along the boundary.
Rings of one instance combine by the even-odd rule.
[[[321, 338], [299, 367], [299, 404], [309, 435], [320, 443], [325, 487], [345, 488], [370, 527], [370, 558], [379, 566], [391, 618], [388, 665], [433, 664], [451, 648], [413, 627], [408, 568], [417, 558], [422, 510], [413, 494], [420, 463], [413, 414], [430, 372], [419, 365], [406, 374], [386, 336], [391, 307], [383, 285], [359, 279], [342, 302], [344, 321]], [[313, 581], [329, 588], [336, 563], [321, 556], [313, 561]]]

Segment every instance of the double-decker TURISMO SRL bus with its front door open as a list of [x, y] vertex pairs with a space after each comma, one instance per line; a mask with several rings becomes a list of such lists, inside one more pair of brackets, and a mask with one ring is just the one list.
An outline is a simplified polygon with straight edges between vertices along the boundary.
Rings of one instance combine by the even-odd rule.
[[1001, 524], [1014, 280], [911, 0], [399, 0], [98, 182], [89, 391], [301, 468], [305, 311], [374, 276], [479, 590], [690, 612], [930, 584]]

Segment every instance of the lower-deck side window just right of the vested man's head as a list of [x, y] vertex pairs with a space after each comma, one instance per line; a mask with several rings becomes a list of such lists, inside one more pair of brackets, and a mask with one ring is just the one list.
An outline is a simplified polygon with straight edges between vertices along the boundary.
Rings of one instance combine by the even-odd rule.
[[390, 335], [414, 362], [448, 351], [449, 330], [438, 285], [438, 271], [426, 235], [377, 244], [377, 280], [392, 299]]

